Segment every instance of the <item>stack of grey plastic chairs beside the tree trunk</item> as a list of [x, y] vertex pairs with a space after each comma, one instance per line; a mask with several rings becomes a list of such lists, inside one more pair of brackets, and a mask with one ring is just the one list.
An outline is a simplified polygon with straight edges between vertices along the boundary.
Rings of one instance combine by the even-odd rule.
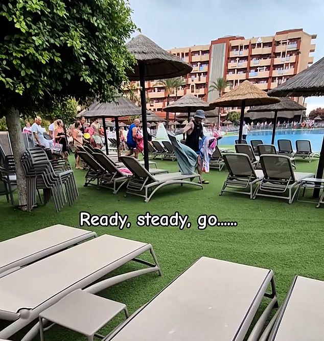
[[[57, 160], [56, 160], [57, 161]], [[27, 178], [27, 210], [37, 206], [36, 191], [43, 189], [44, 203], [51, 196], [55, 209], [59, 212], [68, 203], [72, 206], [79, 196], [72, 169], [66, 169], [66, 162], [57, 163], [54, 167], [42, 148], [28, 149], [21, 158], [21, 164]]]

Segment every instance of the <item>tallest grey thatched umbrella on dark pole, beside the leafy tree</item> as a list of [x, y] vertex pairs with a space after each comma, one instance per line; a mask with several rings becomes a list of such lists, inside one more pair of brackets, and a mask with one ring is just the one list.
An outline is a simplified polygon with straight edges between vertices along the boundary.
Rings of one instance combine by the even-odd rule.
[[[141, 107], [143, 126], [146, 127], [146, 96], [145, 81], [174, 78], [184, 76], [192, 71], [192, 66], [183, 62], [179, 57], [168, 53], [151, 39], [143, 34], [132, 38], [126, 44], [128, 50], [134, 55], [137, 65], [128, 71], [131, 81], [140, 81]], [[143, 129], [144, 137], [144, 164], [149, 169], [148, 136], [147, 129]]]

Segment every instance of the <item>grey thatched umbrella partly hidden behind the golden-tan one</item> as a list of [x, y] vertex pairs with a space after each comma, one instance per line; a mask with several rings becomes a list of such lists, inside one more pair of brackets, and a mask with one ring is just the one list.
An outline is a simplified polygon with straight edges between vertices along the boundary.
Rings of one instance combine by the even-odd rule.
[[289, 97], [281, 97], [279, 103], [261, 105], [250, 108], [247, 112], [274, 112], [271, 144], [274, 143], [275, 128], [277, 125], [278, 111], [302, 111], [305, 107], [292, 101]]

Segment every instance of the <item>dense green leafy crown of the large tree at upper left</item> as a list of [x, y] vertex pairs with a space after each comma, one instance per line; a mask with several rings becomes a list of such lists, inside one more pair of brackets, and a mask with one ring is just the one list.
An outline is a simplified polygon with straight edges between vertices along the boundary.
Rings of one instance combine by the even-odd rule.
[[135, 62], [125, 46], [136, 29], [125, 1], [4, 0], [0, 110], [34, 112], [71, 96], [110, 101]]

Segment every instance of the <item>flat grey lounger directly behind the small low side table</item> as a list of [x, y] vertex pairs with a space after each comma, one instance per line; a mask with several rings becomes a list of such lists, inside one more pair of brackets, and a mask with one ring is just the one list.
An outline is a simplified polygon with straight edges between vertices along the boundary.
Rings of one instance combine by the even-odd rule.
[[[136, 258], [147, 251], [154, 263]], [[131, 260], [147, 266], [93, 284]], [[11, 337], [38, 319], [41, 311], [76, 289], [86, 288], [96, 294], [111, 285], [151, 272], [161, 275], [149, 243], [111, 235], [99, 236], [21, 267], [0, 278], [0, 319], [13, 321], [0, 331], [0, 338]], [[38, 327], [37, 323], [24, 341], [32, 340]]]

